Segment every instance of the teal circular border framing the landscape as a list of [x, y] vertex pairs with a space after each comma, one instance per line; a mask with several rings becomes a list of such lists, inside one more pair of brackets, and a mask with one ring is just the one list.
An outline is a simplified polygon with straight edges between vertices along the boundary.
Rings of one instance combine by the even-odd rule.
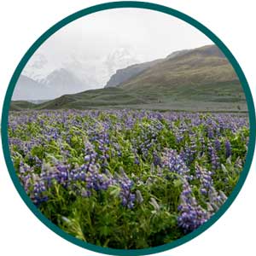
[[[44, 41], [47, 40], [52, 34], [57, 32], [61, 27], [66, 26], [68, 23], [72, 22], [73, 20], [77, 20], [85, 15], [90, 15], [102, 10], [106, 9], [119, 9], [119, 8], [137, 8], [137, 9], [150, 9], [154, 11], [158, 11], [167, 15], [172, 15], [177, 17], [180, 20], [183, 20], [189, 23], [192, 26], [195, 26], [198, 30], [203, 32], [208, 38], [212, 40], [213, 43], [218, 45], [218, 48], [221, 49], [224, 55], [228, 58], [231, 65], [236, 71], [236, 74], [241, 82], [242, 88], [244, 90], [245, 96], [247, 98], [247, 108], [249, 111], [249, 122], [250, 122], [250, 136], [249, 136], [249, 143], [248, 143], [248, 151], [247, 151], [247, 158], [246, 163], [244, 165], [243, 171], [241, 172], [241, 177], [239, 178], [235, 189], [225, 201], [224, 205], [220, 207], [218, 212], [216, 212], [212, 218], [210, 218], [207, 223], [202, 224], [200, 228], [197, 230], [189, 233], [186, 236], [183, 236], [176, 241], [172, 241], [171, 243], [159, 246], [159, 247], [152, 247], [147, 249], [137, 249], [137, 250], [121, 250], [121, 249], [112, 249], [112, 248], [105, 248], [99, 247], [84, 241], [81, 241], [74, 236], [68, 235], [65, 231], [61, 230], [55, 224], [51, 223], [48, 218], [44, 217], [44, 215], [38, 210], [37, 207], [32, 203], [28, 195], [26, 195], [25, 190], [23, 189], [22, 185], [20, 184], [19, 178], [15, 174], [15, 168], [13, 166], [13, 162], [10, 157], [9, 152], [9, 139], [8, 139], [8, 119], [9, 119], [9, 105], [11, 102], [11, 98], [13, 95], [13, 91], [15, 90], [15, 84], [20, 77], [20, 73], [22, 69], [26, 66], [26, 62], [31, 58], [34, 52], [38, 49], [41, 44], [44, 44]], [[236, 61], [235, 57], [231, 54], [230, 50], [224, 45], [224, 43], [213, 33], [211, 32], [206, 26], [203, 26], [197, 20], [189, 17], [188, 15], [183, 14], [182, 12], [177, 11], [176, 9], [171, 9], [166, 6], [162, 6], [155, 3], [144, 3], [144, 2], [113, 2], [113, 3], [102, 3], [96, 6], [92, 6], [87, 9], [82, 9], [73, 15], [67, 16], [65, 19], [59, 21], [54, 26], [50, 27], [48, 31], [44, 32], [44, 34], [38, 38], [38, 40], [32, 44], [31, 48], [27, 50], [26, 54], [22, 57], [19, 65], [15, 69], [15, 73], [13, 74], [10, 82], [9, 87], [6, 92], [6, 96], [3, 102], [3, 113], [2, 113], [2, 124], [1, 124], [1, 135], [2, 135], [2, 145], [3, 145], [3, 154], [6, 161], [6, 165], [9, 170], [9, 175], [12, 178], [13, 183], [15, 184], [15, 188], [17, 189], [20, 197], [23, 201], [25, 201], [26, 206], [30, 208], [30, 210], [39, 218], [41, 222], [43, 222], [50, 230], [53, 230], [56, 234], [61, 236], [62, 238], [66, 239], [67, 241], [73, 242], [74, 244], [78, 245], [79, 247], [84, 247], [91, 251], [97, 253], [105, 253], [111, 255], [147, 255], [152, 253], [160, 253], [166, 251], [168, 249], [172, 249], [174, 247], [180, 246], [183, 243], [190, 241], [191, 239], [199, 236], [203, 231], [207, 230], [212, 224], [214, 224], [218, 218], [220, 218], [224, 212], [230, 207], [231, 203], [236, 199], [236, 196], [241, 190], [243, 183], [246, 180], [247, 173], [249, 172], [252, 160], [253, 160], [253, 153], [255, 148], [255, 133], [254, 129], [256, 127], [255, 122], [255, 108], [253, 105], [253, 96], [251, 94], [250, 88], [247, 84], [247, 79], [244, 73], [241, 70], [238, 62]]]

